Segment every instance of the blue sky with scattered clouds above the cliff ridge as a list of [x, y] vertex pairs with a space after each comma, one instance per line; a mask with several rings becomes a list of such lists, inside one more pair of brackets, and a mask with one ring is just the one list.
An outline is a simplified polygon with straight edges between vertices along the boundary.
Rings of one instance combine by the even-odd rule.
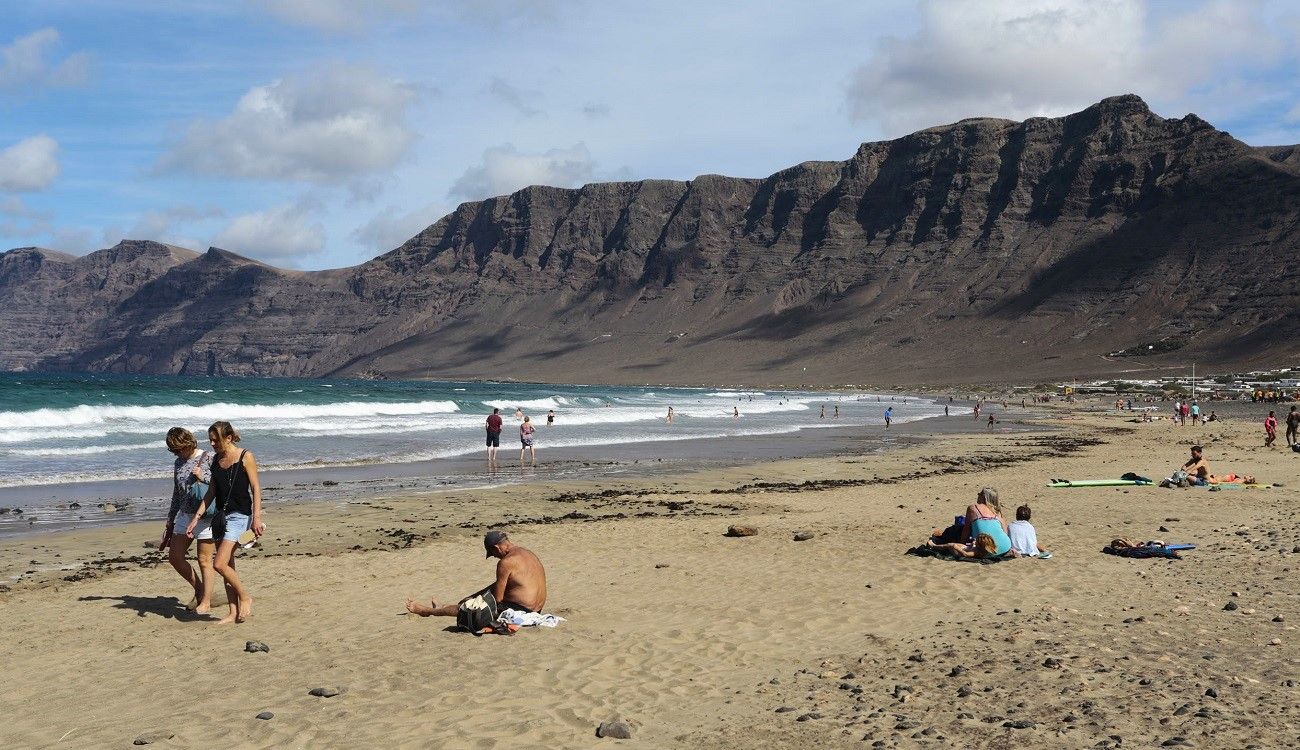
[[0, 248], [338, 268], [529, 185], [766, 177], [1118, 94], [1300, 143], [1300, 3], [0, 4]]

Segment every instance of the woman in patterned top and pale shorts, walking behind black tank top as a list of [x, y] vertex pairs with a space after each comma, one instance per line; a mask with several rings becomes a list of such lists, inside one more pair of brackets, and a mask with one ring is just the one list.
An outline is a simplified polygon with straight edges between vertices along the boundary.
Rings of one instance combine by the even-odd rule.
[[212, 585], [217, 576], [212, 568], [212, 554], [216, 543], [212, 541], [212, 528], [208, 519], [200, 519], [195, 525], [194, 538], [199, 541], [199, 575], [195, 575], [190, 560], [190, 543], [194, 538], [185, 530], [199, 508], [212, 481], [212, 454], [199, 450], [194, 433], [185, 428], [172, 428], [166, 432], [166, 450], [176, 456], [172, 482], [172, 507], [168, 510], [166, 526], [162, 530], [160, 550], [168, 550], [168, 560], [186, 584], [194, 589], [194, 602], [188, 608], [199, 615], [212, 610]]

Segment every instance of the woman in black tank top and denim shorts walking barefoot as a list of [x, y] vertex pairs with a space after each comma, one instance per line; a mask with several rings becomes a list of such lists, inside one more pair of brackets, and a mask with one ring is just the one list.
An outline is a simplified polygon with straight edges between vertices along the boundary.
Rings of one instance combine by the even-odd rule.
[[212, 484], [199, 503], [196, 516], [185, 529], [194, 536], [199, 516], [208, 503], [217, 504], [212, 521], [212, 537], [217, 541], [217, 559], [213, 567], [226, 581], [226, 602], [230, 611], [220, 623], [243, 623], [252, 616], [252, 597], [235, 572], [235, 547], [239, 537], [252, 529], [257, 537], [266, 530], [261, 521], [261, 484], [257, 480], [257, 460], [239, 447], [239, 433], [230, 422], [213, 422], [208, 428], [208, 442], [216, 459], [212, 463]]

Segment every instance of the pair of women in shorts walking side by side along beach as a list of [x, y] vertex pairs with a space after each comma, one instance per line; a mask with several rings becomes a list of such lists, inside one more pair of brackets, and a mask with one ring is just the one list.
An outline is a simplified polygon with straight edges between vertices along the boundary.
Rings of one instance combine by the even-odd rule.
[[[252, 616], [252, 595], [235, 572], [235, 550], [252, 546], [266, 530], [257, 460], [239, 447], [239, 433], [230, 422], [212, 422], [208, 445], [212, 450], [200, 450], [185, 428], [166, 433], [166, 450], [176, 461], [159, 550], [168, 550], [172, 567], [194, 589], [188, 610], [199, 615], [212, 610], [214, 573], [221, 573], [229, 611], [218, 623], [243, 623]], [[188, 560], [195, 541], [198, 572]]]

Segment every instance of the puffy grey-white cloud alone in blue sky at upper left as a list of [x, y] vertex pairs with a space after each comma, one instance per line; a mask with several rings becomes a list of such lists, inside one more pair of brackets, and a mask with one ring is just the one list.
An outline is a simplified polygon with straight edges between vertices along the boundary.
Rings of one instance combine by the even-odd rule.
[[416, 88], [369, 68], [335, 65], [244, 94], [218, 121], [198, 121], [159, 160], [162, 170], [243, 179], [339, 183], [387, 170], [415, 134]]

